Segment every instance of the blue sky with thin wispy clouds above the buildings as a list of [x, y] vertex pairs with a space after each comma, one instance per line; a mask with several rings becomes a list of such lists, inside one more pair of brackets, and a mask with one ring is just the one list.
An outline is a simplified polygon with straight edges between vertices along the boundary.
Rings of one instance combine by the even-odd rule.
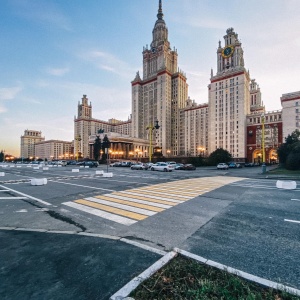
[[[25, 129], [73, 139], [86, 94], [93, 117], [127, 120], [131, 84], [142, 73], [158, 0], [2, 0], [0, 10], [0, 150], [19, 155]], [[163, 0], [171, 47], [189, 95], [208, 101], [218, 41], [233, 27], [245, 67], [267, 110], [300, 90], [299, 0]]]

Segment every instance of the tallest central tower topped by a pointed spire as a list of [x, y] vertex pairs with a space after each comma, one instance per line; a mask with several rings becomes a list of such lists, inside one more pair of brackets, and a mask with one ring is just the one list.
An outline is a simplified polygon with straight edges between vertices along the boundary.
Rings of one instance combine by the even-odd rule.
[[154, 145], [173, 155], [179, 151], [179, 109], [188, 95], [186, 76], [177, 67], [177, 50], [171, 50], [168, 28], [159, 0], [152, 42], [143, 48], [143, 78], [137, 72], [132, 85], [132, 136], [149, 139], [147, 127], [158, 120], [160, 129], [153, 136]]

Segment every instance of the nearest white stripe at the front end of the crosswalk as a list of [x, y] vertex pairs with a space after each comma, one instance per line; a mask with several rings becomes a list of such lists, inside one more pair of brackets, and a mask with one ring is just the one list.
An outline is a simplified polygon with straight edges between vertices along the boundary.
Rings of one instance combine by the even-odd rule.
[[95, 215], [95, 216], [98, 216], [98, 217], [101, 217], [101, 218], [104, 218], [104, 219], [107, 219], [107, 220], [110, 220], [110, 221], [113, 221], [113, 222], [117, 222], [117, 223], [120, 223], [120, 224], [123, 224], [123, 225], [127, 225], [127, 226], [132, 225], [132, 224], [137, 222], [135, 220], [131, 220], [131, 219], [128, 219], [128, 218], [125, 218], [125, 217], [115, 215], [115, 214], [110, 214], [108, 212], [101, 211], [99, 209], [94, 209], [94, 208], [91, 208], [91, 207], [88, 207], [88, 206], [85, 206], [85, 205], [81, 205], [81, 204], [77, 204], [77, 203], [74, 203], [74, 202], [64, 202], [62, 204], [67, 205], [67, 206], [72, 207], [72, 208], [75, 208], [75, 209], [79, 209], [79, 210], [84, 211], [86, 213], [89, 213], [89, 214], [92, 214], [92, 215]]

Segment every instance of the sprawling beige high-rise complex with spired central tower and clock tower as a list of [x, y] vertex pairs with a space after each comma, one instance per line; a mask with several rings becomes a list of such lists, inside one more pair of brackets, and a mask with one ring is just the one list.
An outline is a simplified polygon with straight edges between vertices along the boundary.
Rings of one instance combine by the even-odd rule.
[[[142, 52], [142, 75], [137, 72], [131, 82], [131, 117], [127, 121], [94, 119], [92, 105], [84, 95], [74, 119], [74, 153], [92, 157], [91, 144], [103, 129], [119, 134], [119, 141], [125, 143], [120, 144], [122, 152], [136, 150], [143, 157], [149, 155], [151, 140], [164, 156], [208, 156], [223, 148], [238, 162], [261, 161], [265, 145], [267, 162], [277, 161], [277, 147], [300, 128], [300, 92], [282, 95], [282, 110], [266, 111], [260, 87], [245, 67], [241, 40], [229, 28], [223, 45], [218, 42], [208, 99], [197, 104], [188, 96], [187, 77], [178, 68], [177, 49], [171, 48], [163, 17], [159, 0], [152, 41]], [[149, 130], [156, 121], [160, 127]], [[118, 142], [115, 134], [111, 137]]]

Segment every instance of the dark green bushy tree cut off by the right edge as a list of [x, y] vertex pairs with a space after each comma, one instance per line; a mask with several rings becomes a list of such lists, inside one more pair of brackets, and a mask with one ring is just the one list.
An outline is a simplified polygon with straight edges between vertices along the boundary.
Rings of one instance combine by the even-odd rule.
[[279, 162], [288, 170], [300, 168], [300, 165], [297, 163], [297, 154], [298, 156], [300, 155], [299, 143], [300, 131], [296, 129], [285, 138], [285, 143], [281, 144], [277, 149]]

